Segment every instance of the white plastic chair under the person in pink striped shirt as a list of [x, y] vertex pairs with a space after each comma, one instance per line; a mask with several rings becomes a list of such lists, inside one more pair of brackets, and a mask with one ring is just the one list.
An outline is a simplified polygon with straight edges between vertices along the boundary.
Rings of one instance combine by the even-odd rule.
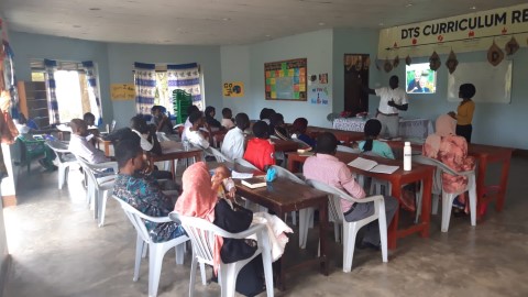
[[[348, 273], [352, 268], [352, 260], [354, 257], [355, 237], [360, 229], [374, 221], [378, 220], [380, 240], [382, 243], [382, 260], [387, 262], [387, 219], [385, 215], [385, 200], [383, 196], [371, 196], [363, 199], [355, 199], [336, 187], [329, 186], [324, 183], [308, 179], [306, 184], [316, 189], [327, 191], [330, 196], [328, 199], [328, 213], [330, 221], [333, 221], [336, 240], [339, 238], [339, 224], [343, 224], [343, 272]], [[344, 220], [343, 211], [341, 209], [341, 199], [346, 199], [355, 204], [374, 202], [374, 213], [371, 217], [364, 218], [355, 222], [348, 222]]]

